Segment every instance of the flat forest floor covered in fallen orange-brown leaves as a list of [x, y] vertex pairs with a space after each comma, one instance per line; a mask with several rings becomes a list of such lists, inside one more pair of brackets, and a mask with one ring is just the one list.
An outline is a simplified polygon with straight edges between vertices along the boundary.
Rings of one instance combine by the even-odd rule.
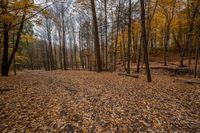
[[0, 77], [0, 132], [200, 132], [200, 85], [188, 79], [61, 70]]

